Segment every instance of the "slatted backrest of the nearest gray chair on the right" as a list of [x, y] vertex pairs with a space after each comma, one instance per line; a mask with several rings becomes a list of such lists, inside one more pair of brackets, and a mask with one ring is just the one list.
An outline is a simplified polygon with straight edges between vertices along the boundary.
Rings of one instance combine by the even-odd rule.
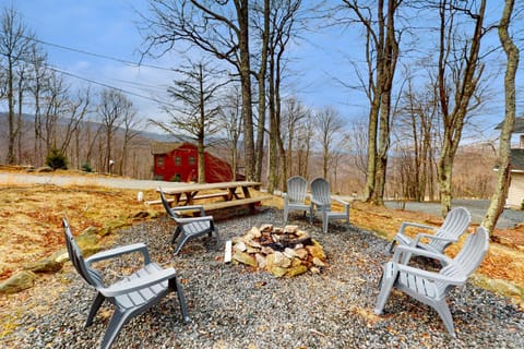
[[[467, 236], [462, 250], [453, 258], [453, 263], [444, 266], [440, 274], [456, 277], [469, 277], [483, 263], [489, 246], [489, 233], [484, 227], [478, 227], [475, 233]], [[445, 292], [449, 284], [439, 282], [438, 288]]]

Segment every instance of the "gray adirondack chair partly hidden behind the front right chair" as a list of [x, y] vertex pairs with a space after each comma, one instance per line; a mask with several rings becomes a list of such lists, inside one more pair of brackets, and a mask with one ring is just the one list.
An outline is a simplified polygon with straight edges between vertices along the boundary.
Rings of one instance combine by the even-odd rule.
[[[458, 238], [466, 231], [472, 216], [464, 207], [455, 207], [448, 213], [440, 228], [421, 225], [418, 222], [404, 221], [390, 244], [390, 253], [393, 252], [395, 244], [409, 245], [412, 248], [420, 248], [433, 253], [442, 254], [452, 242], [458, 241]], [[416, 227], [433, 230], [434, 233], [418, 233], [414, 239], [405, 233], [407, 227]], [[424, 243], [420, 239], [429, 239], [428, 243]], [[406, 253], [404, 260], [409, 260], [409, 253]]]

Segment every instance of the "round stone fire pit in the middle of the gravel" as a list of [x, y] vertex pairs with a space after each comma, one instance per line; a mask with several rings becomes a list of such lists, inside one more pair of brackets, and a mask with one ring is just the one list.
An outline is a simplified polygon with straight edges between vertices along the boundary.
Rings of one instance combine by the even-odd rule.
[[297, 226], [253, 227], [231, 242], [233, 261], [277, 277], [320, 273], [327, 265], [322, 245]]

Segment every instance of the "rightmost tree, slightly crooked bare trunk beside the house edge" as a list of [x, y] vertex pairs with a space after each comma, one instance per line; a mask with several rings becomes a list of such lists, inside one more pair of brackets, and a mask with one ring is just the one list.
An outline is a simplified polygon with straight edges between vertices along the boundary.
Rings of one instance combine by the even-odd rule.
[[497, 188], [491, 197], [491, 203], [483, 219], [483, 226], [490, 232], [493, 231], [497, 220], [504, 207], [511, 174], [511, 133], [515, 123], [515, 75], [519, 68], [520, 50], [509, 34], [514, 0], [504, 1], [504, 10], [499, 23], [499, 39], [508, 58], [504, 91], [505, 91], [505, 116], [500, 131], [500, 145], [498, 154]]

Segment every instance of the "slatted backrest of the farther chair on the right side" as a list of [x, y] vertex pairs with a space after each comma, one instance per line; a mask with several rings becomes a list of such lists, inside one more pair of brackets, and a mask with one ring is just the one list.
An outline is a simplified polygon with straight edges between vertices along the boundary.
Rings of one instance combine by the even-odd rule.
[[[458, 239], [458, 237], [466, 231], [471, 221], [472, 216], [466, 208], [455, 207], [448, 213], [444, 222], [436, 231], [436, 236], [449, 239]], [[431, 239], [429, 242], [429, 245], [437, 251], [444, 251], [449, 244], [449, 241], [442, 241], [438, 239]]]

